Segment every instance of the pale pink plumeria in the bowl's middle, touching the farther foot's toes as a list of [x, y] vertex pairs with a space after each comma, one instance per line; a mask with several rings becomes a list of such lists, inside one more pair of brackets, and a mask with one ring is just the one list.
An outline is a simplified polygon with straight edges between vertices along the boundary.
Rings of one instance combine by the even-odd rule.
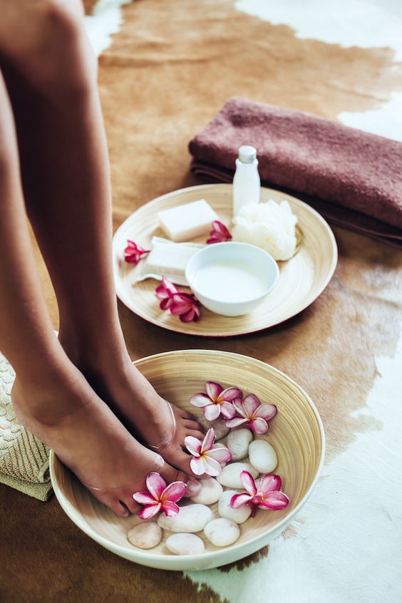
[[185, 446], [189, 453], [192, 454], [190, 467], [192, 473], [195, 473], [195, 475], [207, 473], [207, 475], [216, 477], [220, 475], [222, 470], [221, 465], [229, 463], [232, 459], [232, 455], [226, 446], [214, 444], [214, 442], [215, 432], [212, 427], [208, 429], [202, 442], [194, 436], [185, 437]]

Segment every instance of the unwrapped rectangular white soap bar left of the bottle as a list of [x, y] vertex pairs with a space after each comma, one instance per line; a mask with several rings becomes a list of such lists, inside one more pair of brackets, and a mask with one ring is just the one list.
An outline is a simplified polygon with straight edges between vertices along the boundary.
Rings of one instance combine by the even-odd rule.
[[211, 222], [219, 220], [205, 199], [159, 212], [158, 218], [162, 230], [175, 242], [209, 234], [212, 230]]

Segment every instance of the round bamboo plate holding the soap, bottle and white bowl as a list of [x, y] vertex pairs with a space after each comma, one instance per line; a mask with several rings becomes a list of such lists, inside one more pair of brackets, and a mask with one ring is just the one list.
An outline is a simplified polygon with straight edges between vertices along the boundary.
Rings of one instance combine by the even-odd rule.
[[[325, 220], [309, 205], [269, 188], [261, 189], [262, 201], [286, 199], [297, 215], [301, 242], [297, 254], [288, 262], [278, 262], [279, 281], [272, 292], [250, 314], [220, 316], [202, 307], [198, 322], [183, 323], [178, 316], [159, 307], [155, 296], [158, 282], [147, 279], [134, 283], [137, 268], [124, 261], [127, 239], [150, 249], [153, 236], [164, 237], [158, 226], [158, 212], [205, 198], [220, 220], [232, 220], [232, 185], [200, 185], [175, 190], [140, 207], [123, 222], [113, 237], [113, 270], [115, 289], [123, 304], [143, 319], [170, 331], [189, 335], [227, 337], [262, 331], [279, 324], [309, 306], [329, 283], [337, 262], [333, 232]], [[205, 238], [194, 239], [205, 242]], [[180, 287], [182, 289], [182, 287]], [[182, 289], [188, 290], [188, 289]]]

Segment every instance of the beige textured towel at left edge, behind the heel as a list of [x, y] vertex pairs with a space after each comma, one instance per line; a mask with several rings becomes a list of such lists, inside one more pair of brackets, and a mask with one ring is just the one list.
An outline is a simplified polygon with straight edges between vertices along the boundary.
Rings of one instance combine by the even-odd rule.
[[21, 426], [11, 406], [15, 373], [0, 354], [0, 483], [48, 500], [52, 493], [48, 475], [49, 450]]

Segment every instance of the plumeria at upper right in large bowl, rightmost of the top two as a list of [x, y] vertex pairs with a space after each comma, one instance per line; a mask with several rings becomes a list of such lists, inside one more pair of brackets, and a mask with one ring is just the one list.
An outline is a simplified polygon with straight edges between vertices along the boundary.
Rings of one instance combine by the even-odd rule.
[[266, 433], [268, 431], [267, 421], [277, 414], [277, 407], [274, 404], [260, 403], [254, 393], [249, 393], [244, 400], [236, 398], [233, 400], [233, 406], [238, 416], [226, 421], [226, 426], [239, 427], [242, 425], [254, 433]]

